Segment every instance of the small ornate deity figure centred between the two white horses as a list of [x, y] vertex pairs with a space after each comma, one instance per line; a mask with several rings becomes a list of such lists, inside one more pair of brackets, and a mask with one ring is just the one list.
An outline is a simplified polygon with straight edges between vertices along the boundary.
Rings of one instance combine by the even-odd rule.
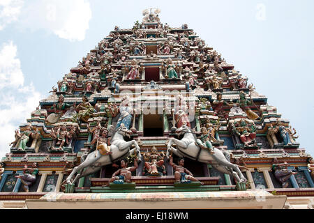
[[[153, 146], [151, 148], [151, 153], [144, 153], [144, 166], [147, 170], [147, 174], [150, 175], [163, 175], [166, 174], [165, 165], [163, 164], [163, 157], [165, 157], [165, 154], [162, 152], [158, 154], [157, 148]], [[161, 170], [160, 170], [161, 169]], [[145, 173], [143, 172], [143, 175]]]

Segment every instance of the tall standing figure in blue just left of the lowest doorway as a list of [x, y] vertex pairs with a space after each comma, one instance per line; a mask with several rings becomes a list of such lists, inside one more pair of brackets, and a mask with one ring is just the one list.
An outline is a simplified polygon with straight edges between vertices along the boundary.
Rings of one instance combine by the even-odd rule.
[[126, 126], [126, 128], [129, 130], [133, 118], [133, 107], [130, 103], [130, 98], [128, 96], [124, 96], [124, 98], [122, 99], [119, 106], [119, 113], [120, 116], [117, 122], [116, 129], [119, 128], [120, 125], [123, 123], [124, 126]]

